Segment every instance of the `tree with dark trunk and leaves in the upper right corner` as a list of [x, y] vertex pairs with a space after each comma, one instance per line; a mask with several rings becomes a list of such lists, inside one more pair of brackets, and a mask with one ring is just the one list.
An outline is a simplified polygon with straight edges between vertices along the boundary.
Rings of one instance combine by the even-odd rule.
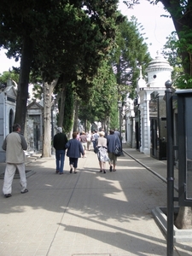
[[[192, 88], [192, 1], [148, 0], [155, 4], [161, 2], [167, 10], [167, 17], [172, 17], [177, 32], [177, 47], [182, 59], [184, 73], [179, 76], [178, 86]], [[139, 0], [124, 1], [128, 8], [133, 8]]]

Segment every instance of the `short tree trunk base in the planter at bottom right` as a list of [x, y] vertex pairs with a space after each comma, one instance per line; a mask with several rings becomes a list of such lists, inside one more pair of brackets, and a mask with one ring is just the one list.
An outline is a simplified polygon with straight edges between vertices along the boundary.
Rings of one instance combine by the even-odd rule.
[[177, 229], [192, 229], [192, 207], [180, 207], [175, 221]]

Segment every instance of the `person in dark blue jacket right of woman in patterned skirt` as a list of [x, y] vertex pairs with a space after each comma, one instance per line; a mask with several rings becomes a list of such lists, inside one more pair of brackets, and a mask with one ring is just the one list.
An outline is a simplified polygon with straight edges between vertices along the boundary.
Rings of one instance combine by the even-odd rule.
[[115, 172], [116, 163], [117, 163], [117, 156], [114, 155], [114, 149], [116, 146], [121, 148], [119, 137], [114, 134], [113, 130], [109, 131], [109, 135], [107, 137], [107, 146], [108, 146], [108, 158], [110, 160], [110, 172]]

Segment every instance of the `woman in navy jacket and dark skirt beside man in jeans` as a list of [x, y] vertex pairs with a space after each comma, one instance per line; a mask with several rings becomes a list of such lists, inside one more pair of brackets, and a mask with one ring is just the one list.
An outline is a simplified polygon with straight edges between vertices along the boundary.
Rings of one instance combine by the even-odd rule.
[[77, 140], [77, 132], [73, 132], [73, 138], [67, 142], [66, 148], [67, 156], [69, 157], [70, 173], [73, 172], [73, 168], [74, 173], [77, 173], [78, 159], [81, 157], [81, 154], [84, 155], [84, 148], [79, 140]]

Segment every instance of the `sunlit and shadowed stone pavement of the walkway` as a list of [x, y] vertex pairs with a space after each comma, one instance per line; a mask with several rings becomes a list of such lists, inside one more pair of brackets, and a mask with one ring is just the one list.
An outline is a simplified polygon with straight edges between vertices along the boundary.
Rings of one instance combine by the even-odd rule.
[[[166, 207], [166, 161], [125, 152], [117, 172], [106, 174], [92, 150], [79, 159], [77, 174], [69, 173], [67, 157], [63, 175], [55, 174], [54, 156], [29, 161], [29, 193], [21, 195], [15, 179], [13, 196], [0, 196], [0, 256], [166, 255], [151, 214]], [[175, 244], [174, 255], [192, 255], [192, 242]]]

